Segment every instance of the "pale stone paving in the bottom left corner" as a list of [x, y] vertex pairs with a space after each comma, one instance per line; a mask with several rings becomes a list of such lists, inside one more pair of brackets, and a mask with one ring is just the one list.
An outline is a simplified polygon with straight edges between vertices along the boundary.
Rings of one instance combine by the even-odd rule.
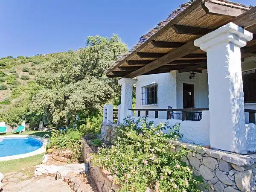
[[[18, 178], [18, 177], [15, 177]], [[17, 182], [17, 181], [16, 181]], [[9, 181], [4, 186], [4, 192], [71, 192], [70, 187], [63, 180], [54, 177], [32, 177], [18, 183]]]

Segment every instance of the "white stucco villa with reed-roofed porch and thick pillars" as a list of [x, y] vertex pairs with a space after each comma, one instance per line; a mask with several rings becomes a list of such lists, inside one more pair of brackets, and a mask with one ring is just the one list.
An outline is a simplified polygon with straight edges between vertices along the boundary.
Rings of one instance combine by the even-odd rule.
[[[256, 7], [223, 0], [181, 5], [106, 73], [121, 78], [118, 122], [129, 115], [179, 122], [187, 143], [256, 151], [253, 34]], [[104, 122], [113, 122], [112, 105], [104, 107]]]

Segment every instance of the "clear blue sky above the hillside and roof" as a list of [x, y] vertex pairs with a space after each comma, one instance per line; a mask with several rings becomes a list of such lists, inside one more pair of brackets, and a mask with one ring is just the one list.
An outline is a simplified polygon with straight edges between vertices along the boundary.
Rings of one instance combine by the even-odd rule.
[[0, 57], [76, 50], [87, 36], [113, 33], [131, 48], [184, 1], [0, 0]]

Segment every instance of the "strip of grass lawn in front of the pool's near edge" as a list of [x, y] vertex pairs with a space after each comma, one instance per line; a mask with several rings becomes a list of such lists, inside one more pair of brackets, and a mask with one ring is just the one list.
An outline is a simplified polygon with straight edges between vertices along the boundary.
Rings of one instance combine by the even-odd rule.
[[34, 175], [35, 165], [39, 165], [42, 163], [43, 154], [38, 154], [31, 157], [26, 157], [22, 159], [15, 159], [9, 161], [1, 161], [0, 162], [0, 172], [3, 174], [7, 172], [23, 172], [24, 175], [28, 175], [32, 177]]

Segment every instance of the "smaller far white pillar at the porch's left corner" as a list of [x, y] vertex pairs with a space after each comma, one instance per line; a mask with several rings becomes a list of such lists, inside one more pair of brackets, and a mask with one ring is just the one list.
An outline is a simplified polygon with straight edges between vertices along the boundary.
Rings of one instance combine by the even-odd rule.
[[129, 79], [129, 78], [122, 78], [119, 79], [118, 83], [122, 85], [121, 90], [121, 105], [120, 105], [120, 122], [123, 122], [123, 119], [126, 116], [132, 115], [132, 111], [128, 109], [132, 107], [132, 91], [133, 91], [133, 84], [135, 84], [137, 79]]

